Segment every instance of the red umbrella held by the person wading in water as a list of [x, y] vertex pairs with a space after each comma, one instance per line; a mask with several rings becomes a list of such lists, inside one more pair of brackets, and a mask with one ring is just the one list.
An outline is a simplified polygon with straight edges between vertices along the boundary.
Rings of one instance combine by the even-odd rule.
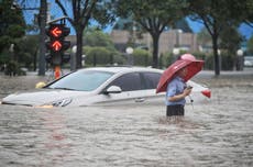
[[183, 78], [185, 81], [189, 80], [197, 73], [202, 69], [204, 60], [197, 60], [193, 55], [185, 54], [180, 56], [180, 59], [172, 64], [162, 74], [158, 85], [156, 87], [156, 93], [166, 91], [168, 82], [174, 78], [175, 74], [182, 68], [187, 68], [187, 75]]

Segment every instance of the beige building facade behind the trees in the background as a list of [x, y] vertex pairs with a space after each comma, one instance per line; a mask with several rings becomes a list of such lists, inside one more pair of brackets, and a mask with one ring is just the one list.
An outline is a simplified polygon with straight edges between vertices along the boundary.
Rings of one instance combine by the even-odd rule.
[[[133, 36], [129, 31], [113, 30], [110, 34], [116, 47], [124, 52], [129, 41], [134, 38], [134, 43], [140, 46], [146, 46], [148, 51], [153, 48], [153, 40], [148, 33], [142, 34], [141, 38]], [[160, 36], [158, 53], [173, 53], [174, 48], [187, 52], [197, 52], [197, 35], [193, 33], [184, 33], [180, 30], [170, 30], [163, 32]]]

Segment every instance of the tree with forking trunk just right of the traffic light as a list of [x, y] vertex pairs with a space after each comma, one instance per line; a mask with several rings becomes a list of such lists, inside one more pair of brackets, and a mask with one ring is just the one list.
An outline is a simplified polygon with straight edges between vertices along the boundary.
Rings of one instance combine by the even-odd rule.
[[108, 10], [110, 0], [70, 0], [70, 12], [68, 12], [69, 7], [63, 5], [62, 1], [55, 0], [55, 2], [62, 9], [64, 15], [69, 18], [68, 21], [76, 31], [76, 68], [81, 68], [84, 30], [87, 27], [90, 21], [97, 21], [101, 25], [105, 25], [109, 23], [111, 19], [113, 19], [111, 12]]

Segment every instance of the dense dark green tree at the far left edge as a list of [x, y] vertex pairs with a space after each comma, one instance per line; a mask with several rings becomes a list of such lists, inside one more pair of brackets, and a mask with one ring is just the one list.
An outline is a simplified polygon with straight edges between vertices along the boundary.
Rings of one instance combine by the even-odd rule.
[[6, 74], [20, 75], [19, 46], [25, 34], [25, 22], [13, 0], [0, 1], [0, 63], [7, 64]]

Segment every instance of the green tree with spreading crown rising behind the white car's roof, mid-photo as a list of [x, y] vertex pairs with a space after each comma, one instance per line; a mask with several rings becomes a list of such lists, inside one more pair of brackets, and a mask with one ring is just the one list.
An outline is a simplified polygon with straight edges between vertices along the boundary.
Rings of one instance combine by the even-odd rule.
[[187, 7], [185, 0], [114, 0], [117, 14], [122, 18], [132, 15], [153, 38], [153, 62], [152, 66], [158, 66], [158, 40], [166, 26], [172, 25], [184, 18], [184, 10]]

